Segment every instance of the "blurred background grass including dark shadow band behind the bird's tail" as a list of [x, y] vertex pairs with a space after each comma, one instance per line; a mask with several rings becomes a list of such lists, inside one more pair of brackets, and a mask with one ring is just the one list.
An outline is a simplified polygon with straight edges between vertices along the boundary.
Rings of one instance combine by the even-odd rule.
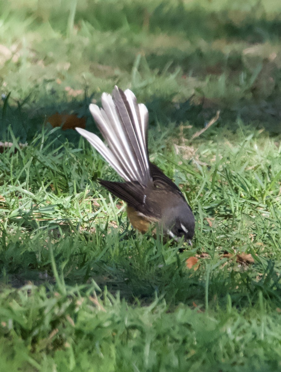
[[30, 0], [0, 7], [2, 138], [12, 124], [16, 136], [29, 139], [55, 112], [88, 118], [89, 100], [114, 84], [146, 103], [151, 123], [202, 126], [220, 109], [223, 126], [235, 129], [241, 118], [280, 133], [276, 0]]

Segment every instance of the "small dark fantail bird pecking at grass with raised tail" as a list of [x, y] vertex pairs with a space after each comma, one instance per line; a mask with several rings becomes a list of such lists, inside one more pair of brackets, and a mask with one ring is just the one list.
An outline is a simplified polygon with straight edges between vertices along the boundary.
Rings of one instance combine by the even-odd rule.
[[131, 225], [142, 233], [158, 224], [163, 234], [190, 245], [195, 218], [179, 187], [148, 155], [148, 110], [131, 90], [114, 87], [112, 95], [102, 93], [102, 108], [91, 103], [89, 110], [107, 145], [94, 133], [75, 128], [124, 179], [98, 182], [127, 203]]

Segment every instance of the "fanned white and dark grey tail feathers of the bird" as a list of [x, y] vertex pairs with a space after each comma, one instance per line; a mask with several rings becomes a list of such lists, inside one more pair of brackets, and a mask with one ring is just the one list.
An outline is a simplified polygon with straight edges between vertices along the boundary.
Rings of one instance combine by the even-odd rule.
[[[113, 98], [112, 98], [113, 96]], [[131, 90], [114, 87], [112, 96], [102, 93], [102, 109], [91, 104], [89, 109], [106, 146], [100, 138], [75, 128], [105, 158], [125, 181], [137, 181], [146, 186], [151, 181], [147, 153], [148, 111]]]

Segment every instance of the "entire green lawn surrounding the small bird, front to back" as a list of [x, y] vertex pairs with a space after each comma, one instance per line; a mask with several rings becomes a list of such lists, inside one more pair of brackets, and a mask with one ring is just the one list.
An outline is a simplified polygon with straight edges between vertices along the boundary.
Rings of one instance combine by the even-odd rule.
[[[0, 1], [1, 366], [281, 371], [280, 6], [108, 4]], [[192, 247], [136, 233], [97, 182], [115, 172], [48, 124], [75, 113], [95, 131], [88, 104], [116, 83], [148, 106]]]

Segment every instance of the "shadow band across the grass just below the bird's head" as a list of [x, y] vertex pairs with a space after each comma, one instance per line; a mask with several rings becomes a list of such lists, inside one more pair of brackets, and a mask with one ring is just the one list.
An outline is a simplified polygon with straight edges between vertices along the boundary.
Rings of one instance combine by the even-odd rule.
[[200, 260], [195, 271], [185, 261], [196, 248], [183, 253], [178, 248], [119, 229], [107, 235], [102, 230], [91, 236], [65, 235], [55, 243], [53, 234], [49, 241], [46, 235], [26, 237], [1, 251], [1, 281], [16, 288], [32, 281], [47, 288], [78, 286], [86, 292], [94, 280], [102, 291], [107, 288], [114, 296], [119, 292], [130, 303], [146, 305], [157, 294], [171, 306], [183, 302], [199, 309], [224, 307], [228, 296], [238, 309], [255, 306], [262, 293], [273, 307], [279, 306], [281, 279], [273, 261], [239, 267], [217, 256]]

